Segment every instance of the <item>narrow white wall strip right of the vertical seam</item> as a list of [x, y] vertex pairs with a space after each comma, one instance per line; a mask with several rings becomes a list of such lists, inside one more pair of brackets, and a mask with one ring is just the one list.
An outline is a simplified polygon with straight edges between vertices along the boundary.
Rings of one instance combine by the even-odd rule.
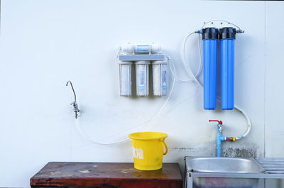
[[[284, 156], [284, 126], [281, 108], [284, 99], [280, 97], [283, 92], [283, 48], [284, 27], [281, 26], [284, 18], [284, 2], [266, 3], [266, 82], [265, 82], [265, 150], [266, 157]], [[284, 187], [284, 180], [267, 180], [266, 187]]]

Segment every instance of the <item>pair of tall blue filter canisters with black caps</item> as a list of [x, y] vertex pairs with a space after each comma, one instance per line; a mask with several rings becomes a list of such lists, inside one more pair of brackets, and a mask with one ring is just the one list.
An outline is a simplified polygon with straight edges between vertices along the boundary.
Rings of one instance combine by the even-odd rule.
[[204, 109], [216, 109], [217, 100], [217, 55], [220, 40], [221, 98], [222, 109], [234, 109], [234, 40], [236, 33], [244, 33], [232, 27], [203, 28], [202, 34], [204, 62]]

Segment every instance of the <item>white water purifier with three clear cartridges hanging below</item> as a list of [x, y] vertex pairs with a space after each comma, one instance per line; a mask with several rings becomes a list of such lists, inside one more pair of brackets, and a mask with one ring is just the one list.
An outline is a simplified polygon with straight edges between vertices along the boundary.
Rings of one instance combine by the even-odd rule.
[[135, 65], [136, 95], [149, 95], [149, 69], [152, 67], [153, 96], [167, 94], [167, 57], [157, 43], [132, 45], [127, 43], [119, 47], [119, 83], [120, 96], [131, 96], [131, 67]]

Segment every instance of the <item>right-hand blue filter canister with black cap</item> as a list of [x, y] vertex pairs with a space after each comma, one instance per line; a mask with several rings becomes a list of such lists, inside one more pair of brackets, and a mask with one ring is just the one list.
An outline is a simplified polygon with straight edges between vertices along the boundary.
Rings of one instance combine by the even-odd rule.
[[219, 32], [221, 47], [221, 98], [222, 109], [234, 109], [234, 42], [235, 28], [221, 28]]

